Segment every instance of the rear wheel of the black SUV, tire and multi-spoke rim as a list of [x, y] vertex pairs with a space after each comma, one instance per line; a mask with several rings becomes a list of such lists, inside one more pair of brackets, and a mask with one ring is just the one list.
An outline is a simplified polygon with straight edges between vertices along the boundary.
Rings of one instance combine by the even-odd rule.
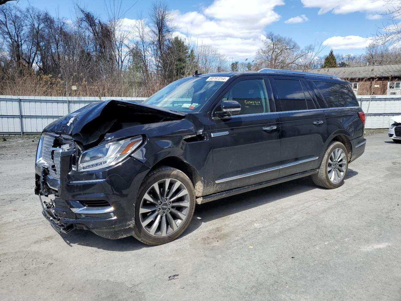
[[[336, 151], [336, 153], [333, 153], [334, 151]], [[337, 155], [338, 153], [340, 153], [341, 160], [336, 160], [336, 158], [333, 157], [333, 155]], [[312, 175], [313, 182], [327, 189], [340, 187], [342, 183], [344, 183], [348, 171], [349, 158], [347, 154], [348, 152], [344, 144], [338, 141], [330, 142], [324, 153], [322, 163], [320, 163], [318, 173]], [[343, 157], [344, 155], [345, 157]], [[333, 158], [334, 160], [332, 160]]]

